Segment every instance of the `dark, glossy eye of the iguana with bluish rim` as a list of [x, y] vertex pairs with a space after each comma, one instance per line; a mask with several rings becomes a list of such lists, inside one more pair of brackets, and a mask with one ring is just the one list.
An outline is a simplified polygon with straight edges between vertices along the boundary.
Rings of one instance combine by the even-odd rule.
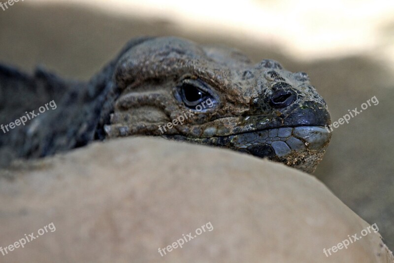
[[206, 86], [199, 80], [184, 79], [180, 85], [180, 93], [183, 103], [191, 109], [196, 109], [196, 106], [201, 102], [212, 98], [207, 93]]

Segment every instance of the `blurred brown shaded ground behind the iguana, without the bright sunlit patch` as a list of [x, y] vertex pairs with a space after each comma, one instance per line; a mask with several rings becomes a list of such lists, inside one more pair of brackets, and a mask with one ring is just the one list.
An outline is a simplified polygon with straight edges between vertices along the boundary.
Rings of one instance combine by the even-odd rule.
[[[163, 18], [147, 20], [72, 4], [28, 1], [0, 10], [0, 24], [0, 62], [27, 71], [43, 64], [60, 75], [88, 79], [130, 38], [173, 35], [237, 47], [256, 62], [271, 58], [288, 70], [307, 72], [327, 101], [333, 121], [376, 96], [377, 106], [334, 130], [315, 175], [364, 220], [376, 223], [388, 247], [394, 248], [394, 74], [381, 57], [374, 57], [379, 45], [359, 55], [296, 60], [272, 44], [188, 31]], [[393, 24], [383, 25], [381, 34], [392, 35]]]

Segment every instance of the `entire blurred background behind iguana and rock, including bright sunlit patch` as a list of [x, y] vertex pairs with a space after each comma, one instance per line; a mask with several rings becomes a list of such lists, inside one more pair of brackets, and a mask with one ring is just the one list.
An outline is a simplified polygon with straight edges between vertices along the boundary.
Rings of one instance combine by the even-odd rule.
[[376, 96], [334, 129], [315, 176], [394, 249], [394, 1], [26, 0], [0, 24], [0, 63], [28, 72], [87, 80], [130, 38], [178, 36], [307, 72], [332, 121]]

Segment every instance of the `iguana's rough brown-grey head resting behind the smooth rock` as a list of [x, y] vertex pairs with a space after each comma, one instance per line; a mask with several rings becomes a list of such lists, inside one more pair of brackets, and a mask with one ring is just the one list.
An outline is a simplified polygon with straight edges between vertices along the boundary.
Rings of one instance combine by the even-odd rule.
[[[117, 61], [107, 137], [156, 135], [314, 171], [330, 139], [327, 105], [305, 73], [234, 49], [152, 38]], [[181, 117], [182, 116], [182, 117]]]

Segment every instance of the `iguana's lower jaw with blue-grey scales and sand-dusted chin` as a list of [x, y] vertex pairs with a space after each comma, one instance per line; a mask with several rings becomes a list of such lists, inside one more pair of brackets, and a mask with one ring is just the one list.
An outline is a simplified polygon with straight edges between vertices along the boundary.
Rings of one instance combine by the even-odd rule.
[[331, 133], [323, 126], [296, 126], [209, 138], [165, 137], [238, 150], [312, 173], [326, 151]]

